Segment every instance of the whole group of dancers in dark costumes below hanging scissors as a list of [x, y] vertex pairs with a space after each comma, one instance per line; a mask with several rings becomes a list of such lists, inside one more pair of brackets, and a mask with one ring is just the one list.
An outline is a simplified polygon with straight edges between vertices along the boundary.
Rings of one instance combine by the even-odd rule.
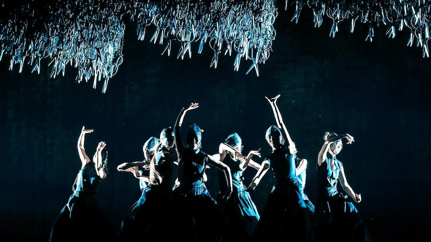
[[[158, 138], [150, 137], [144, 143], [143, 161], [117, 166], [118, 171], [131, 172], [139, 180], [142, 192], [124, 217], [119, 235], [94, 198], [97, 184], [106, 177], [106, 144], [99, 143], [91, 161], [83, 146], [85, 134], [92, 130], [82, 127], [77, 146], [81, 170], [73, 194], [52, 226], [49, 241], [370, 242], [366, 226], [350, 202], [359, 203], [361, 195], [348, 185], [342, 163], [336, 159], [341, 140], [351, 144], [353, 137], [325, 132], [317, 157], [314, 207], [304, 193], [308, 162], [296, 156], [295, 143], [276, 104], [279, 96], [265, 97], [276, 125], [266, 130], [272, 153], [260, 164], [252, 159], [261, 157], [260, 149], [244, 156], [237, 133], [230, 134], [219, 144], [218, 153], [210, 155], [201, 149], [201, 129], [192, 124], [184, 145], [180, 128], [185, 114], [198, 108], [198, 103], [183, 107], [173, 128], [165, 127]], [[214, 197], [205, 185], [209, 166], [218, 169], [219, 193]], [[247, 167], [255, 169], [256, 175], [245, 186], [243, 172]], [[249, 192], [269, 169], [275, 183], [259, 213]], [[337, 189], [338, 183], [348, 196]]]

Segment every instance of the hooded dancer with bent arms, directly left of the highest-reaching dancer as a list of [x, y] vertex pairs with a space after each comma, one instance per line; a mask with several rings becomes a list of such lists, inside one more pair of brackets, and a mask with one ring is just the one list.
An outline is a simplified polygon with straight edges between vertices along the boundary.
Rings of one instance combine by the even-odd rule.
[[[246, 157], [241, 152], [243, 149], [241, 137], [237, 133], [230, 134], [218, 147], [220, 161], [230, 168], [232, 174], [233, 192], [227, 201], [218, 196], [216, 201], [227, 217], [228, 227], [232, 241], [250, 241], [254, 228], [260, 215], [257, 211], [250, 194], [242, 183], [243, 171], [247, 166], [256, 170], [260, 164], [251, 159], [253, 155], [260, 157], [260, 149], [251, 150]], [[218, 171], [218, 180], [223, 181], [224, 174]], [[220, 183], [220, 191], [225, 191], [225, 183]], [[221, 195], [221, 193], [219, 194]]]

